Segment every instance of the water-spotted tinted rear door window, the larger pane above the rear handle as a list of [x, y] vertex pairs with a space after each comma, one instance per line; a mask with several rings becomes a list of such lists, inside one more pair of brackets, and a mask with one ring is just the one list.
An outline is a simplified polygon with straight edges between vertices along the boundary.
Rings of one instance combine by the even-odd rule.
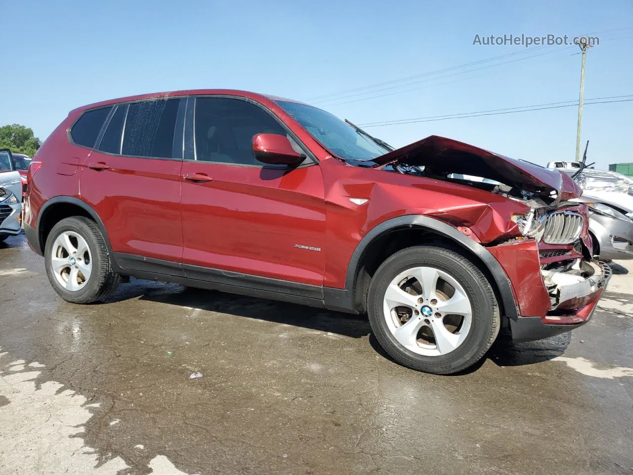
[[122, 155], [172, 158], [179, 101], [161, 99], [130, 104], [125, 120]]

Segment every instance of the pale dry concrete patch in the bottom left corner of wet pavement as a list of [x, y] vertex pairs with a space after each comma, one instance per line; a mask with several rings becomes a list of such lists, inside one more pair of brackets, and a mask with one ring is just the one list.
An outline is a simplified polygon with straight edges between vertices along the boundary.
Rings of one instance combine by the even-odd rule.
[[[6, 355], [0, 350], [0, 426], [11, 436], [0, 434], [0, 467], [13, 467], [13, 473], [25, 475], [117, 475], [130, 468], [120, 457], [104, 460], [84, 445], [85, 425], [98, 404], [89, 404], [85, 396], [55, 381], [36, 384], [41, 371], [34, 368], [44, 365], [9, 362]], [[28, 456], [31, 453], [37, 456]], [[156, 455], [148, 468], [153, 475], [187, 475], [164, 455]]]

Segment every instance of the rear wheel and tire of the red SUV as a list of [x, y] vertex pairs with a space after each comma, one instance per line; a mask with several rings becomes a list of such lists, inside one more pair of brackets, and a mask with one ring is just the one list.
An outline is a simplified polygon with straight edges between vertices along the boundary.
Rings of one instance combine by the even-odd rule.
[[72, 303], [103, 300], [115, 291], [121, 280], [112, 270], [101, 231], [94, 221], [83, 216], [66, 218], [54, 225], [46, 239], [44, 261], [55, 291]]

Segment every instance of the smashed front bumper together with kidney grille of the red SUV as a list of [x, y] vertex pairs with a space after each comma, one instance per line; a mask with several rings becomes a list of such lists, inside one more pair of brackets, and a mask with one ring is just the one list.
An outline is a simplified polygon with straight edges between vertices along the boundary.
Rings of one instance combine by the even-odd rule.
[[534, 237], [488, 248], [515, 293], [513, 341], [547, 338], [586, 323], [611, 277], [608, 265], [591, 257], [585, 206], [539, 210], [534, 219], [540, 220]]

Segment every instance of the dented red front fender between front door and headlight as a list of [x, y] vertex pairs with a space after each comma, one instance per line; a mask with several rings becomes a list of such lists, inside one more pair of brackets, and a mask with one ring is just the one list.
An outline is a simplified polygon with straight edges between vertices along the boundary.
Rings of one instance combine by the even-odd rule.
[[[320, 163], [327, 202], [325, 285], [343, 288], [349, 259], [360, 240], [380, 223], [398, 216], [427, 215], [454, 227], [468, 227], [471, 238], [489, 243], [516, 236], [512, 213], [523, 203], [472, 187], [439, 180], [358, 168], [330, 158]], [[354, 205], [349, 198], [367, 199]]]

